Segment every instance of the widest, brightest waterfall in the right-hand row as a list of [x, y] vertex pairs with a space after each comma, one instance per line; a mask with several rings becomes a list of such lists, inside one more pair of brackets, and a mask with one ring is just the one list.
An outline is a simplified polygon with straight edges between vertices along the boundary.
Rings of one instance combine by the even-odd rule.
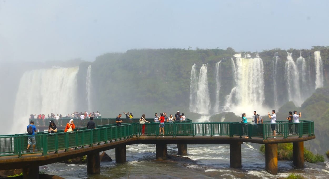
[[[246, 54], [235, 54], [236, 57], [236, 89], [232, 89], [226, 101], [226, 108], [230, 111], [242, 113], [242, 111], [255, 110], [262, 106], [264, 96], [264, 65], [259, 57], [250, 57]], [[232, 97], [232, 95], [235, 96]], [[228, 105], [229, 104], [229, 105]]]

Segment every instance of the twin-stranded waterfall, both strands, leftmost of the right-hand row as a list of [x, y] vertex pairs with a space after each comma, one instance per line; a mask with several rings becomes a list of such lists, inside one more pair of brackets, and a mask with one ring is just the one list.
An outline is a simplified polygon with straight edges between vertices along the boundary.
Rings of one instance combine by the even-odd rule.
[[[199, 78], [196, 77], [195, 64], [191, 69], [190, 111], [194, 113], [209, 114], [210, 97], [208, 89], [207, 68], [207, 64], [202, 64]], [[196, 96], [194, 96], [195, 94]]]

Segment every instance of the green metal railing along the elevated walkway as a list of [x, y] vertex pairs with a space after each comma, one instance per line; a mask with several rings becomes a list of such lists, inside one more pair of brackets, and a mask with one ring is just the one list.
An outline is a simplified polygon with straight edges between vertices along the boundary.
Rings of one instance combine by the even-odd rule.
[[[159, 136], [160, 123], [146, 123], [144, 134], [146, 136]], [[258, 137], [266, 140], [273, 137], [271, 125], [268, 122], [264, 124], [238, 123], [238, 122], [209, 122], [192, 123], [191, 120], [166, 122], [164, 124], [164, 136], [247, 136], [249, 138]], [[314, 135], [314, 122], [301, 121], [300, 123], [288, 123], [286, 121], [277, 121], [274, 124], [276, 137], [284, 139], [290, 136], [302, 137], [303, 135]], [[290, 134], [290, 127], [292, 133]], [[107, 124], [96, 126], [96, 129], [88, 130], [86, 127], [76, 128], [73, 132], [63, 132], [49, 134], [48, 132], [38, 132], [36, 135], [15, 134], [0, 136], [0, 156], [41, 153], [47, 155], [48, 152], [58, 152], [59, 150], [78, 149], [86, 145], [108, 143], [138, 137], [142, 135], [143, 124], [128, 123], [120, 126]], [[35, 141], [35, 150], [33, 145], [27, 150], [28, 141]]]

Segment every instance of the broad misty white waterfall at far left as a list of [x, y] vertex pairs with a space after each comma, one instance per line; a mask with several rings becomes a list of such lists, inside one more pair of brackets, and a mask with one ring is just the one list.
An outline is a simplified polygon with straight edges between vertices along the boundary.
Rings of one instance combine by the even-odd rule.
[[19, 83], [10, 134], [26, 133], [30, 114], [65, 114], [76, 110], [79, 67], [25, 72]]

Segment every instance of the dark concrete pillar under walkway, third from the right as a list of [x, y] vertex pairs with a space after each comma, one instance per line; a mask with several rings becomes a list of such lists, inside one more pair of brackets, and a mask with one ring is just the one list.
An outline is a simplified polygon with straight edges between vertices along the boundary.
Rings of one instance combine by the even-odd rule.
[[241, 142], [230, 143], [230, 167], [241, 168]]

